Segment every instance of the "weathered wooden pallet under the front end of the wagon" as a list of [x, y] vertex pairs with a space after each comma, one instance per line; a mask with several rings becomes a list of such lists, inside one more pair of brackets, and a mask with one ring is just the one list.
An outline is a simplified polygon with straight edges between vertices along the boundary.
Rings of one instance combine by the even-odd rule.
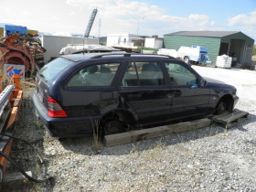
[[220, 115], [215, 115], [211, 120], [215, 123], [219, 123], [224, 128], [230, 128], [238, 123], [245, 121], [248, 118], [249, 112], [243, 112], [240, 110], [234, 110], [234, 112], [227, 112]]

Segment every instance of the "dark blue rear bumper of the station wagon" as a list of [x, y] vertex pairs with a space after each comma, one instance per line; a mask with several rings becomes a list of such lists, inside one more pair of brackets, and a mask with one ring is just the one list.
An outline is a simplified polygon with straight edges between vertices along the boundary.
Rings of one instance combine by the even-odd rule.
[[51, 118], [47, 114], [47, 109], [38, 101], [36, 93], [33, 94], [33, 102], [39, 118], [52, 137], [70, 138], [92, 135], [93, 124], [101, 118], [100, 116]]

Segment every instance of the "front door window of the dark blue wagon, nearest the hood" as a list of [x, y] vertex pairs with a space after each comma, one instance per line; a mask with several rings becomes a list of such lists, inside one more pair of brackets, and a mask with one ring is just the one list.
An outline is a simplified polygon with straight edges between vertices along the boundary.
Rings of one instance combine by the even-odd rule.
[[177, 63], [165, 63], [171, 85], [193, 85], [197, 83], [197, 76], [184, 66]]

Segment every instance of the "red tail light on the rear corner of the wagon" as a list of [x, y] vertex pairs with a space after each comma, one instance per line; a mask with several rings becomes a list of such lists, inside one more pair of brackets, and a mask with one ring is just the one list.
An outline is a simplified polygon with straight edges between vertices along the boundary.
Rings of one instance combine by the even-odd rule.
[[68, 117], [67, 113], [59, 105], [58, 101], [55, 101], [51, 97], [48, 97], [48, 116], [50, 116], [50, 117]]

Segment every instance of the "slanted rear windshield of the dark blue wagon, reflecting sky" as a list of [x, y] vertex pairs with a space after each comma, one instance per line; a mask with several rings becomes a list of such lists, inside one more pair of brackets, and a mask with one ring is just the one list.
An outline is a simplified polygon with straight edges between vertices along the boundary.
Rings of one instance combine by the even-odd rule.
[[43, 80], [49, 84], [53, 80], [55, 80], [57, 74], [62, 70], [74, 63], [75, 61], [59, 58], [50, 61], [46, 64], [42, 69], [39, 70], [39, 75]]

